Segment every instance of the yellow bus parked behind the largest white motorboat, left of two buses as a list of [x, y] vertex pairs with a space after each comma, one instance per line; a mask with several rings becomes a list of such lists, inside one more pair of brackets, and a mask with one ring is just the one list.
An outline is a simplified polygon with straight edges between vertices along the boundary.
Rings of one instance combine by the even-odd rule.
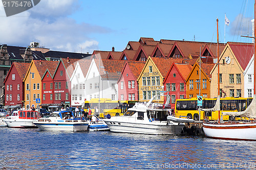
[[95, 107], [99, 108], [99, 117], [104, 118], [106, 115], [110, 114], [111, 116], [123, 115], [127, 109], [132, 108], [136, 102], [139, 101], [112, 101], [111, 99], [100, 98], [100, 107], [99, 99], [91, 99], [90, 101], [84, 101], [84, 111], [90, 108], [92, 113], [95, 113]]

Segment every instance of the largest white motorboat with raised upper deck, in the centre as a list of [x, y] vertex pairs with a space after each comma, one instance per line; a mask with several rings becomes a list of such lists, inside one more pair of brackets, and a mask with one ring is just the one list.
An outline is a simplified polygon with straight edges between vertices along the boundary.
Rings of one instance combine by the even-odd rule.
[[184, 124], [167, 120], [170, 109], [164, 109], [162, 104], [152, 103], [155, 96], [148, 103], [136, 103], [122, 116], [104, 119], [111, 132], [139, 133], [139, 134], [182, 134]]

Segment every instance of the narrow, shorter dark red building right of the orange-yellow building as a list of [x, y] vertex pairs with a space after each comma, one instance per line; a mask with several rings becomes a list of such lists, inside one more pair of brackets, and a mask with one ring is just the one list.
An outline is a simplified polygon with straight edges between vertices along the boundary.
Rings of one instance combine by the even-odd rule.
[[53, 104], [53, 74], [58, 63], [58, 61], [52, 61], [51, 66], [46, 69], [45, 74], [41, 78], [42, 98], [40, 106], [42, 108], [47, 108]]

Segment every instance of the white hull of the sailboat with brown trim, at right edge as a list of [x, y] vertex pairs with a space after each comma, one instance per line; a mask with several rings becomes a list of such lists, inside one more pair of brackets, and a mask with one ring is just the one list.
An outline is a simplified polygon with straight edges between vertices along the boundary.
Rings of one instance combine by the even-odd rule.
[[256, 140], [256, 123], [203, 123], [207, 137], [230, 140]]

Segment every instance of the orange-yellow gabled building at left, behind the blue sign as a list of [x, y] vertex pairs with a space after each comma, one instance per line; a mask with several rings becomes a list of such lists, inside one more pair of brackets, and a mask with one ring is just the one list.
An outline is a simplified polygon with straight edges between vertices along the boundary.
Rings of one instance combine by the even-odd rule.
[[[41, 104], [41, 77], [46, 69], [51, 67], [52, 61], [32, 60], [24, 79], [24, 100], [27, 109]], [[39, 100], [38, 100], [39, 99]]]

